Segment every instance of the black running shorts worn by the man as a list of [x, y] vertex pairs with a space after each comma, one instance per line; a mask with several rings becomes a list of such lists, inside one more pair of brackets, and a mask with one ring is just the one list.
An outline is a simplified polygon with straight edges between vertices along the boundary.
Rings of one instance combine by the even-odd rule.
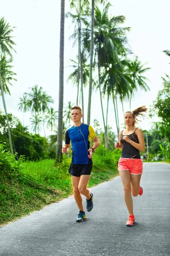
[[93, 163], [87, 164], [75, 164], [71, 163], [69, 174], [72, 176], [80, 177], [81, 175], [91, 175], [91, 170], [93, 167]]

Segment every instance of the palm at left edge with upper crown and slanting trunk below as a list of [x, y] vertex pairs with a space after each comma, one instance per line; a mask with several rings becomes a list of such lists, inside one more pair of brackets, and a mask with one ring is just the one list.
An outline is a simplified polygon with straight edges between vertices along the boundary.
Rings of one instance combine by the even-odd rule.
[[[11, 36], [11, 32], [13, 32], [14, 27], [11, 28], [9, 23], [5, 20], [5, 18], [0, 19], [0, 58], [1, 58], [1, 51], [4, 52], [5, 54], [9, 55], [12, 58], [12, 54], [10, 50], [14, 50], [13, 46], [15, 45], [13, 41], [13, 36]], [[16, 52], [14, 50], [14, 52]], [[2, 79], [1, 79], [1, 67], [0, 67], [0, 88], [1, 88], [1, 94], [3, 98], [3, 106], [4, 110], [6, 113], [6, 121], [8, 125], [8, 136], [9, 136], [9, 143], [10, 143], [10, 149], [11, 149], [11, 154], [13, 155], [13, 148], [12, 148], [12, 140], [11, 140], [11, 132], [10, 132], [10, 127], [8, 123], [8, 114], [6, 110], [6, 103], [5, 103], [5, 98], [4, 98], [4, 92], [3, 92], [3, 84], [2, 84]]]

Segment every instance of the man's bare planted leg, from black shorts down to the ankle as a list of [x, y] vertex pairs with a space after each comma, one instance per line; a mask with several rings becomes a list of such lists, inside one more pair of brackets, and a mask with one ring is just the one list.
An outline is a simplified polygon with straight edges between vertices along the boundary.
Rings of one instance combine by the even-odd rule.
[[79, 211], [84, 212], [84, 209], [83, 209], [83, 206], [82, 206], [82, 197], [81, 197], [79, 189], [78, 189], [80, 177], [71, 175], [71, 180], [72, 180], [73, 190], [74, 190], [74, 199], [77, 203]]

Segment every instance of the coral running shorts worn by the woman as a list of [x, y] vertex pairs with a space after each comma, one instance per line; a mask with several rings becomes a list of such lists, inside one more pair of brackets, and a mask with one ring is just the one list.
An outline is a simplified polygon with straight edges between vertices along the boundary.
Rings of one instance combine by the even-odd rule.
[[129, 170], [130, 174], [142, 174], [143, 172], [143, 163], [141, 159], [135, 159], [135, 158], [123, 158], [120, 157], [119, 163], [118, 163], [118, 171], [126, 171]]

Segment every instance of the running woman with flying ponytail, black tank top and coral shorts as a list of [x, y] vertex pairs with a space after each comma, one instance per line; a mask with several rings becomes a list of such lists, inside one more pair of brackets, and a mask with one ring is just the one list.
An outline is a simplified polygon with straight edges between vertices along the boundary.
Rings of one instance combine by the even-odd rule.
[[[137, 116], [144, 116], [145, 106], [134, 111], [127, 111], [124, 115], [126, 129], [119, 132], [119, 143], [115, 143], [115, 148], [122, 149], [122, 154], [118, 163], [118, 170], [122, 179], [125, 203], [129, 212], [127, 226], [133, 226], [135, 216], [133, 214], [132, 195], [142, 195], [143, 189], [140, 186], [143, 164], [140, 151], [144, 151], [144, 137], [141, 129], [136, 128]], [[132, 193], [132, 195], [131, 195]]]

